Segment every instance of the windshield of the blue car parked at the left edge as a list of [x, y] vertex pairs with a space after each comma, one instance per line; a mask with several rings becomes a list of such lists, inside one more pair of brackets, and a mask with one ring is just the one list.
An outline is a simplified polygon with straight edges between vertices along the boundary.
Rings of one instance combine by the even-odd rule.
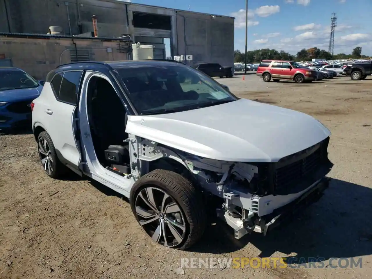
[[23, 71], [1, 71], [0, 90], [38, 87], [39, 83]]

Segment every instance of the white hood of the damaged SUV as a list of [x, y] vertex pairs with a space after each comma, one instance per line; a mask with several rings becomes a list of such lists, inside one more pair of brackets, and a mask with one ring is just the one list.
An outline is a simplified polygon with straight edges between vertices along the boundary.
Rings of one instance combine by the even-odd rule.
[[126, 132], [205, 158], [276, 162], [330, 135], [295, 110], [247, 99], [151, 116], [128, 116]]

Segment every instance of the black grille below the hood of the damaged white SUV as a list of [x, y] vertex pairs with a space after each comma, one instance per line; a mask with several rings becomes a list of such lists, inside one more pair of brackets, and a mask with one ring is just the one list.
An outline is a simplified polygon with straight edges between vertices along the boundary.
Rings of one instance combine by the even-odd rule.
[[[300, 160], [275, 170], [274, 187], [276, 190], [289, 189], [300, 182], [303, 177], [314, 174], [319, 169], [322, 163], [321, 145], [312, 147], [311, 151], [311, 154], [305, 157], [301, 156]], [[295, 154], [292, 158], [295, 158], [296, 155], [300, 156], [301, 154]]]

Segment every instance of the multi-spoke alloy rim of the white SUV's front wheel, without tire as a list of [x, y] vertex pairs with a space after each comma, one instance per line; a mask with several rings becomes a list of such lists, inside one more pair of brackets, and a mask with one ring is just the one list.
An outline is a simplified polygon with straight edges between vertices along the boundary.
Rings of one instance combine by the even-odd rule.
[[163, 190], [146, 187], [135, 200], [135, 213], [144, 231], [155, 242], [174, 247], [186, 236], [186, 218], [177, 202]]

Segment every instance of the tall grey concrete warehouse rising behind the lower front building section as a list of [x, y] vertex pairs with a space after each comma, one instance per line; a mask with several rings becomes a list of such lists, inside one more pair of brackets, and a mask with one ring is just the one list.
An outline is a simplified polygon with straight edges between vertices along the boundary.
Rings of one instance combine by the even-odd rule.
[[99, 36], [130, 35], [135, 43], [154, 45], [154, 58], [165, 58], [169, 39], [171, 56], [193, 55], [190, 64], [233, 65], [233, 17], [120, 0], [2, 0], [0, 32], [46, 34], [49, 26], [61, 26], [65, 35], [90, 35], [92, 15]]

